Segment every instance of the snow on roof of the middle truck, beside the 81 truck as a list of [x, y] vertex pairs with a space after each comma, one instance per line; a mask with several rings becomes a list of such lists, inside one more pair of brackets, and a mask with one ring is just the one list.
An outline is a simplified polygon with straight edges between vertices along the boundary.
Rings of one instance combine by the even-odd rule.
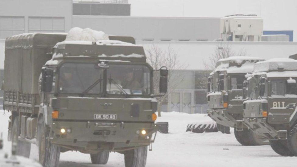
[[254, 64], [258, 61], [264, 61], [260, 57], [232, 56], [217, 61], [216, 68], [210, 75], [216, 71], [226, 71], [227, 73], [250, 73], [253, 71]]

